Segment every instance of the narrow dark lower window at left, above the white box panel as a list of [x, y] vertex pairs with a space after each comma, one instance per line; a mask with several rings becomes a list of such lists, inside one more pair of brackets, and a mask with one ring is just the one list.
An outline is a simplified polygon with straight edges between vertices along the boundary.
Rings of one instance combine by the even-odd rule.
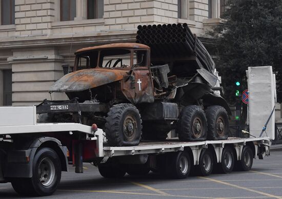
[[3, 105], [12, 106], [12, 70], [3, 70]]

